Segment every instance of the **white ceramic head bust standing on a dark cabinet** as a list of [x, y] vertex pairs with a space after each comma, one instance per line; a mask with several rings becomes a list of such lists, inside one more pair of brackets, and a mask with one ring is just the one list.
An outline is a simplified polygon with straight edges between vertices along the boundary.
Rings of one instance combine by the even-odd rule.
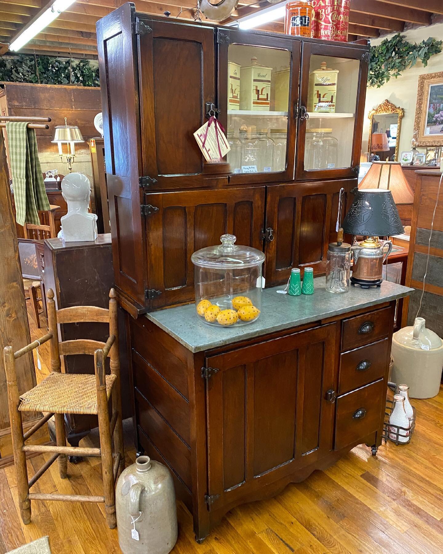
[[60, 219], [65, 242], [85, 242], [97, 238], [97, 216], [89, 213], [91, 183], [83, 173], [69, 173], [61, 181], [61, 194], [68, 213]]

